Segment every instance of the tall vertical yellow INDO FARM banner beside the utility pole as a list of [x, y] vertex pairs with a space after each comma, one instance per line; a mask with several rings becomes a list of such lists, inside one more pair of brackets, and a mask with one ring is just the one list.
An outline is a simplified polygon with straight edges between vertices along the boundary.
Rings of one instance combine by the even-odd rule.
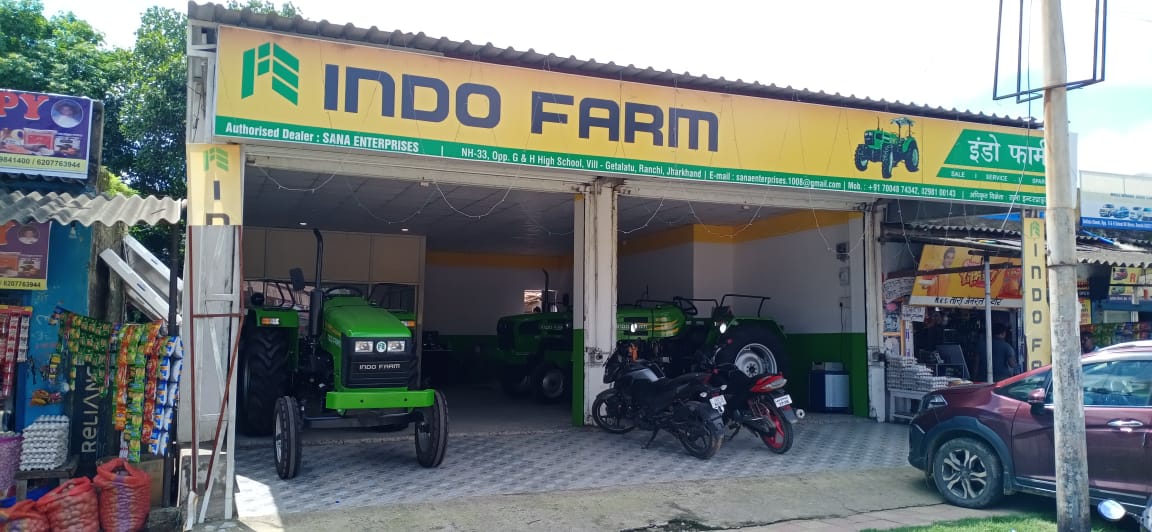
[[1052, 326], [1048, 306], [1048, 253], [1044, 220], [1024, 219], [1024, 339], [1028, 367], [1052, 364]]

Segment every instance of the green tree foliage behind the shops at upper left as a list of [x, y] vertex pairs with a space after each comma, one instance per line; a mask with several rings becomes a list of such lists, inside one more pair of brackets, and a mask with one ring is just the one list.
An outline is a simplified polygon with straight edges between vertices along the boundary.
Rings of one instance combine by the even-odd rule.
[[[276, 7], [271, 1], [232, 0], [227, 6], [300, 15], [291, 2]], [[151, 7], [141, 17], [136, 45], [109, 48], [99, 31], [71, 13], [45, 16], [39, 0], [0, 0], [0, 86], [103, 100], [103, 162], [108, 172], [101, 176], [111, 176], [111, 190], [183, 198], [187, 28], [183, 12]], [[104, 182], [101, 177], [101, 188]], [[168, 231], [132, 228], [161, 259], [168, 254]]]

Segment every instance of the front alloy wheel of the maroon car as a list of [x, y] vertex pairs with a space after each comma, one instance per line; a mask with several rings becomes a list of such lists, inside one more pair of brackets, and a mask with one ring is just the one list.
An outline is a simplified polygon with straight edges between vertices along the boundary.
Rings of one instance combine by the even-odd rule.
[[1003, 496], [1000, 457], [971, 438], [948, 440], [937, 449], [932, 480], [940, 495], [957, 507], [986, 508]]

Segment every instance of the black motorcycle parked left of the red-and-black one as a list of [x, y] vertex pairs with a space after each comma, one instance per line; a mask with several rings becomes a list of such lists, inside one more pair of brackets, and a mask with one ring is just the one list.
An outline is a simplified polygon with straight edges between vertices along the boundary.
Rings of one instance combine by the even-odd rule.
[[638, 358], [636, 345], [616, 348], [604, 368], [604, 382], [612, 387], [596, 396], [592, 420], [600, 428], [623, 434], [634, 428], [660, 430], [680, 440], [688, 454], [707, 459], [723, 443], [726, 424], [723, 390], [704, 382], [707, 373], [685, 373], [668, 379], [659, 365]]

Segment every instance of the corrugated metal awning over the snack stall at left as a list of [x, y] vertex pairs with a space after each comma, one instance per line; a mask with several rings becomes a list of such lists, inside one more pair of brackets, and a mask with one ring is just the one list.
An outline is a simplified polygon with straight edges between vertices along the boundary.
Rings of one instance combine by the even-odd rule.
[[77, 222], [91, 226], [99, 222], [113, 226], [118, 222], [135, 226], [154, 226], [160, 222], [176, 223], [181, 219], [183, 202], [156, 196], [120, 195], [70, 195], [21, 192], [0, 189], [0, 220], [17, 222], [60, 223]]

